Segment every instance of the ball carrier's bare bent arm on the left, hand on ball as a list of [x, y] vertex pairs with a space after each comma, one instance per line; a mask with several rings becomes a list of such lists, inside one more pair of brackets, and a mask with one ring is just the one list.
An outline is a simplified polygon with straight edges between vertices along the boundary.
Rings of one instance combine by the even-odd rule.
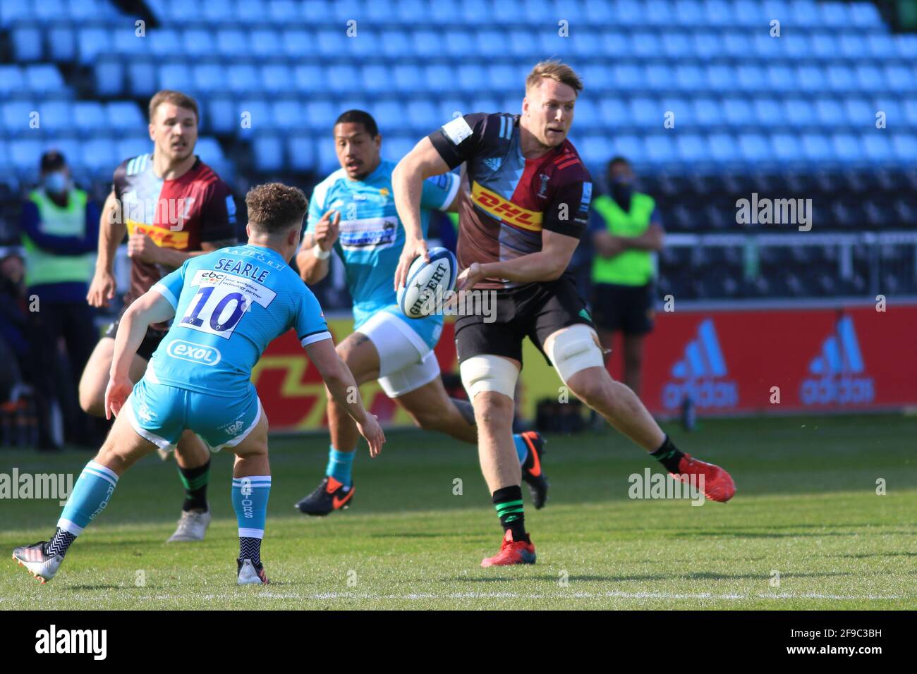
[[427, 178], [448, 170], [448, 164], [439, 156], [430, 139], [423, 138], [392, 171], [395, 208], [404, 226], [404, 249], [395, 270], [395, 290], [407, 282], [407, 271], [418, 256], [423, 255], [424, 260], [430, 260], [426, 252], [424, 229], [420, 224], [420, 197]]

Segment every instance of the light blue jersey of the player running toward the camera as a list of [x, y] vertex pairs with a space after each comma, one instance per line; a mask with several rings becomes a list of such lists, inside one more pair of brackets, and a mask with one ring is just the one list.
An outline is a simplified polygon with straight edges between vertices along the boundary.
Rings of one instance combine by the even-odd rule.
[[[329, 210], [340, 213], [340, 233], [335, 250], [344, 261], [350, 296], [353, 298], [354, 329], [373, 314], [387, 311], [398, 316], [434, 348], [443, 329], [443, 317], [412, 319], [398, 308], [394, 291], [395, 269], [404, 248], [404, 227], [395, 210], [392, 171], [395, 162], [381, 164], [362, 181], [348, 179], [338, 169], [315, 186], [309, 203], [306, 232]], [[458, 175], [445, 173], [424, 181], [420, 199], [420, 222], [426, 228], [433, 210], [446, 210], [458, 193]]]

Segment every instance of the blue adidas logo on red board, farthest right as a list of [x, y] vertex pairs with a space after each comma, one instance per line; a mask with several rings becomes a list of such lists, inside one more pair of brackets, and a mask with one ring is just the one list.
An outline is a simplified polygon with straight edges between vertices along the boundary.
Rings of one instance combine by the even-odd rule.
[[872, 377], [856, 376], [864, 370], [854, 320], [844, 316], [837, 322], [836, 334], [823, 341], [822, 353], [809, 363], [814, 376], [802, 381], [802, 404], [872, 403], [876, 397]]

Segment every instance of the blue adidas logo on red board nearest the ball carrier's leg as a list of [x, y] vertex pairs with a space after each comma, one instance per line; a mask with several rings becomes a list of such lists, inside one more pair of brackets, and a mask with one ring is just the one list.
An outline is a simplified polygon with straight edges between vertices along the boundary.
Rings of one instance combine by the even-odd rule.
[[682, 381], [665, 385], [662, 403], [669, 410], [677, 408], [685, 398], [691, 398], [698, 409], [735, 407], [739, 402], [738, 386], [724, 379], [726, 374], [713, 319], [706, 318], [697, 328], [697, 338], [688, 342], [684, 356], [672, 366], [671, 376]]

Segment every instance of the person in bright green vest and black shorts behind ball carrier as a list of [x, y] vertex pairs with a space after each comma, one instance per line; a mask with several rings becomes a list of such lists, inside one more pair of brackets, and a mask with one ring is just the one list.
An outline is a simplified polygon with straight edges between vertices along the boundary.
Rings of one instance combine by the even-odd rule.
[[634, 189], [634, 171], [623, 157], [608, 164], [611, 194], [592, 200], [592, 320], [604, 348], [616, 330], [624, 335], [624, 383], [640, 394], [643, 338], [653, 329], [655, 253], [665, 236], [648, 194]]

